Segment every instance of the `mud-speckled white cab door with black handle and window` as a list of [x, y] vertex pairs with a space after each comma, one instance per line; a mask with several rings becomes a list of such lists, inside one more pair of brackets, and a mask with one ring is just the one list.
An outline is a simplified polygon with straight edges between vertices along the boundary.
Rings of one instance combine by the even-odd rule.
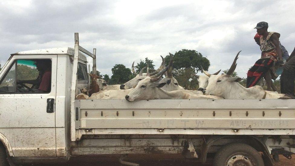
[[15, 55], [0, 76], [0, 132], [16, 157], [56, 156], [57, 55]]

